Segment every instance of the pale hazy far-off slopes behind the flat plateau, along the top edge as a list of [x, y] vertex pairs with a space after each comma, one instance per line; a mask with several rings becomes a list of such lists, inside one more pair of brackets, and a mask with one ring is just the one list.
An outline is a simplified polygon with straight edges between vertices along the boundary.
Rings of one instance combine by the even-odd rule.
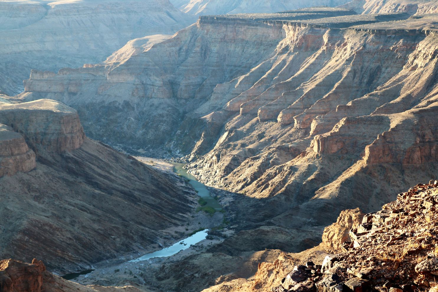
[[187, 14], [216, 15], [237, 13], [273, 13], [314, 6], [336, 7], [348, 0], [171, 0]]

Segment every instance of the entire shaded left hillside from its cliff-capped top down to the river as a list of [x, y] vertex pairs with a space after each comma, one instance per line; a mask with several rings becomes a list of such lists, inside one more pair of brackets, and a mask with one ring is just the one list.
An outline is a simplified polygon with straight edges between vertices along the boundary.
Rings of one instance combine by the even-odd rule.
[[0, 120], [11, 126], [0, 126], [2, 257], [37, 256], [67, 274], [179, 239], [166, 229], [188, 220], [194, 194], [86, 138], [74, 109], [47, 99], [2, 103]]

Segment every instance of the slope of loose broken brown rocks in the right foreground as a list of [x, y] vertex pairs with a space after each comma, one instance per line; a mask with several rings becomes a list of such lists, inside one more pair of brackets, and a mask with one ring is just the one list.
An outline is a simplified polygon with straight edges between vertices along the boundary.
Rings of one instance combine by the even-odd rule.
[[350, 230], [343, 253], [296, 266], [273, 292], [438, 290], [438, 181], [418, 184]]

